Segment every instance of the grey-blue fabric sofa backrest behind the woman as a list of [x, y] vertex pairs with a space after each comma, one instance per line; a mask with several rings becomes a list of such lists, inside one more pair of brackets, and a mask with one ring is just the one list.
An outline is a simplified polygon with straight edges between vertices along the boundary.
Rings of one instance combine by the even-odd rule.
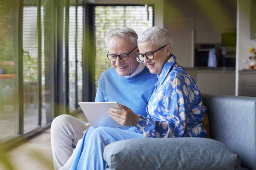
[[211, 138], [239, 154], [241, 166], [256, 169], [256, 97], [202, 94]]

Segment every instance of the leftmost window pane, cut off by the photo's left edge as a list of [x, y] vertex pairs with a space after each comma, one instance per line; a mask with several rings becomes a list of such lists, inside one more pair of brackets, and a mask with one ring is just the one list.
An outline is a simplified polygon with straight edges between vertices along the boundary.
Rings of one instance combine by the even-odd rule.
[[9, 0], [0, 1], [0, 141], [17, 136], [19, 132], [14, 11]]

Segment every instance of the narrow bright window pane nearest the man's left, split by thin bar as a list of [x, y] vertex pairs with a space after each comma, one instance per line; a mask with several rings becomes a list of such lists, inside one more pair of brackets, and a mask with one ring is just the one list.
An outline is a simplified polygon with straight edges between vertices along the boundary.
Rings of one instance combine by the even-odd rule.
[[82, 102], [83, 7], [69, 7], [69, 108]]

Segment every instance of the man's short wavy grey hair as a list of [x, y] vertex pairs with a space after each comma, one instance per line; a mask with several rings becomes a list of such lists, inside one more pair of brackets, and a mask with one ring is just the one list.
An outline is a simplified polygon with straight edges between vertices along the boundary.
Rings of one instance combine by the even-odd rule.
[[107, 47], [108, 47], [108, 41], [113, 36], [116, 36], [116, 37], [119, 37], [119, 38], [129, 39], [129, 40], [132, 41], [132, 43], [135, 46], [137, 46], [138, 35], [137, 35], [137, 33], [133, 29], [130, 29], [129, 27], [122, 26], [122, 27], [119, 27], [117, 29], [110, 30], [107, 33], [106, 38], [105, 38], [105, 43], [106, 43]]

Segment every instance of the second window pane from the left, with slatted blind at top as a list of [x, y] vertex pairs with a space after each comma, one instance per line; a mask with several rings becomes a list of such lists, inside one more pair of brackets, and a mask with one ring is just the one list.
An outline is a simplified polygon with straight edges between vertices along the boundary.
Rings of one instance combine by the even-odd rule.
[[23, 21], [24, 132], [39, 125], [37, 1], [24, 0]]

